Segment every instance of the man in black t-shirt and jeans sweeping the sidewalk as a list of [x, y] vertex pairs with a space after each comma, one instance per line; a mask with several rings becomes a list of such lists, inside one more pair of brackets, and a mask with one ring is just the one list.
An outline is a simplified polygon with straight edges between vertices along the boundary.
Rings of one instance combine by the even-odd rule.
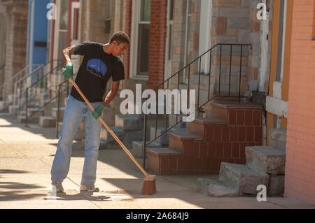
[[[57, 152], [51, 169], [52, 191], [64, 192], [62, 182], [69, 172], [71, 146], [74, 134], [82, 117], [85, 117], [85, 160], [83, 166], [80, 191], [94, 192], [97, 173], [97, 158], [99, 154], [102, 123], [99, 117], [118, 93], [120, 80], [125, 79], [123, 62], [120, 55], [129, 48], [130, 38], [120, 31], [113, 34], [109, 43], [85, 42], [66, 48], [64, 59], [66, 67], [62, 74], [67, 80], [73, 79], [71, 55], [83, 56], [76, 85], [95, 108], [92, 112], [75, 88], [71, 89], [64, 111], [62, 132], [59, 138]], [[106, 83], [112, 78], [111, 92], [103, 100]]]

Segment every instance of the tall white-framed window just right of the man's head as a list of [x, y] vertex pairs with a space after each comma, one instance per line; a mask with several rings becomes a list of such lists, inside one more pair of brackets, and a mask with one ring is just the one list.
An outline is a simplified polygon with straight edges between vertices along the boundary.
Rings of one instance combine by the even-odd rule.
[[132, 76], [148, 77], [151, 0], [132, 3]]

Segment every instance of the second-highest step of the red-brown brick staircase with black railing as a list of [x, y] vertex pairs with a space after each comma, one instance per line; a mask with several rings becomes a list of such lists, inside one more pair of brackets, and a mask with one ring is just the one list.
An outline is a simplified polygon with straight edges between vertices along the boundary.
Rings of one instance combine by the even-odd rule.
[[226, 126], [226, 124], [225, 120], [218, 117], [196, 117], [194, 122], [188, 123], [188, 131], [210, 140], [209, 136], [213, 135], [211, 127]]

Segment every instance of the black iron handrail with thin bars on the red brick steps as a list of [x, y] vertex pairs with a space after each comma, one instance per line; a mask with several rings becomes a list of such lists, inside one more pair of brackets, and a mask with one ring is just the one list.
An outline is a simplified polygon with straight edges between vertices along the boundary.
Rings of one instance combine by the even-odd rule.
[[[221, 94], [221, 68], [222, 68], [222, 53], [223, 53], [223, 46], [230, 46], [230, 76], [229, 76], [229, 89], [228, 89], [228, 95], [223, 95]], [[174, 75], [172, 75], [170, 78], [167, 78], [167, 80], [165, 80], [164, 82], [162, 82], [160, 85], [158, 85], [157, 87], [155, 87], [154, 91], [158, 91], [158, 89], [160, 89], [160, 87], [167, 85], [167, 89], [169, 89], [169, 82], [170, 80], [172, 80], [172, 78], [176, 77], [176, 75], [178, 75], [178, 79], [177, 79], [177, 87], [179, 89], [179, 85], [180, 85], [180, 75], [181, 72], [185, 71], [186, 69], [188, 69], [188, 98], [187, 98], [187, 104], [189, 104], [189, 99], [190, 99], [190, 68], [191, 66], [193, 66], [193, 64], [195, 62], [197, 62], [199, 60], [199, 73], [197, 73], [199, 75], [198, 78], [198, 93], [197, 93], [197, 106], [195, 108], [195, 112], [200, 111], [200, 109], [207, 105], [207, 103], [209, 103], [210, 101], [213, 101], [216, 96], [229, 96], [229, 97], [235, 97], [234, 95], [231, 94], [231, 74], [232, 74], [232, 48], [235, 46], [239, 46], [240, 49], [240, 62], [239, 62], [239, 91], [236, 92], [238, 93], [238, 96], [236, 96], [239, 99], [239, 103], [241, 101], [241, 98], [246, 98], [246, 96], [241, 96], [241, 69], [242, 69], [242, 59], [243, 59], [243, 48], [244, 47], [250, 47], [252, 49], [251, 44], [229, 44], [229, 43], [218, 43], [216, 45], [214, 45], [212, 48], [210, 48], [209, 50], [207, 50], [207, 52], [204, 52], [202, 55], [200, 55], [199, 57], [197, 57], [196, 59], [194, 59], [192, 62], [190, 62], [189, 64], [187, 64], [186, 66], [184, 66], [183, 68], [181, 68], [178, 72], [174, 73]], [[216, 48], [220, 48], [220, 63], [219, 63], [219, 74], [218, 74], [218, 94], [215, 95], [214, 92], [214, 96], [210, 96], [211, 94], [211, 66], [212, 66], [212, 57], [213, 57], [213, 50]], [[210, 54], [210, 63], [209, 63], [209, 83], [208, 83], [208, 98], [207, 101], [205, 103], [202, 103], [202, 105], [200, 105], [200, 82], [201, 82], [201, 65], [202, 65], [202, 57], [204, 55]], [[157, 97], [157, 101], [158, 101], [158, 97]], [[157, 111], [158, 111], [158, 107], [157, 107]], [[144, 114], [144, 141], [143, 141], [143, 147], [144, 147], [144, 168], [146, 168], [146, 147], [148, 145], [150, 145], [151, 143], [153, 143], [154, 141], [156, 141], [158, 138], [162, 137], [163, 135], [167, 134], [171, 129], [174, 129], [174, 127], [176, 127], [179, 123], [182, 122], [182, 120], [179, 120], [179, 115], [176, 114], [176, 124], [174, 124], [172, 127], [168, 127], [169, 125], [169, 118], [167, 117], [167, 115], [165, 115], [165, 131], [162, 132], [162, 134], [160, 134], [160, 136], [158, 136], [157, 131], [158, 131], [158, 112], [155, 115], [155, 138], [153, 138], [153, 140], [149, 141], [148, 143], [146, 142], [146, 131], [147, 131], [147, 118], [148, 115]]]

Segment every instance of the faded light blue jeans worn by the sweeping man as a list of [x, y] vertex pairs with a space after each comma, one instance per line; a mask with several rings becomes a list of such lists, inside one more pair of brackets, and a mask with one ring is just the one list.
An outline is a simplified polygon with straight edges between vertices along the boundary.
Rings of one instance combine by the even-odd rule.
[[[94, 108], [99, 105], [101, 102], [92, 103]], [[52, 184], [62, 182], [69, 173], [73, 138], [82, 117], [85, 117], [85, 159], [81, 185], [94, 185], [96, 181], [102, 123], [92, 117], [92, 111], [85, 102], [69, 96], [64, 111], [62, 132], [51, 169]]]

